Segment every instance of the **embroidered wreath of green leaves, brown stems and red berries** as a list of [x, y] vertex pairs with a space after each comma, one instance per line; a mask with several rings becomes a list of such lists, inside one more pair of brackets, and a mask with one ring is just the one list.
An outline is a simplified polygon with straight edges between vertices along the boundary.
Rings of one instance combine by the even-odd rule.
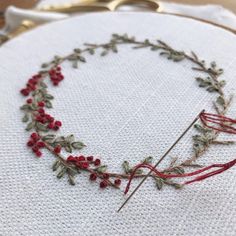
[[[21, 106], [21, 110], [24, 112], [22, 121], [27, 123], [26, 130], [32, 131], [27, 146], [32, 149], [32, 152], [37, 157], [42, 156], [42, 149], [47, 149], [51, 152], [56, 158], [52, 166], [53, 171], [57, 172], [58, 178], [67, 175], [71, 185], [75, 185], [75, 176], [81, 172], [87, 172], [90, 181], [98, 180], [100, 188], [108, 186], [119, 188], [121, 180], [130, 179], [132, 174], [133, 178], [142, 178], [147, 175], [141, 169], [133, 173], [136, 165], [131, 166], [127, 161], [122, 164], [122, 173], [111, 173], [108, 171], [107, 165], [102, 164], [99, 158], [72, 154], [76, 150], [83, 149], [85, 144], [77, 141], [72, 134], [68, 136], [56, 135], [56, 131], [62, 126], [62, 122], [46, 112], [47, 109], [52, 108], [53, 100], [53, 96], [48, 93], [46, 79], [51, 81], [53, 85], [58, 86], [64, 79], [61, 68], [64, 62], [69, 61], [74, 68], [77, 68], [80, 63], [86, 62], [85, 56], [94, 55], [96, 51], [101, 56], [106, 56], [109, 53], [118, 53], [118, 47], [121, 45], [131, 45], [133, 49], [146, 48], [153, 52], [158, 51], [161, 56], [165, 56], [173, 62], [190, 61], [193, 65], [191, 69], [202, 74], [202, 77], [195, 78], [199, 87], [217, 94], [217, 98], [213, 101], [215, 111], [219, 115], [225, 115], [231, 104], [232, 96], [227, 98], [223, 91], [225, 81], [219, 79], [223, 70], [218, 68], [215, 62], [211, 62], [208, 65], [205, 61], [199, 59], [194, 52], [187, 54], [184, 51], [175, 50], [161, 40], [155, 42], [151, 42], [149, 39], [139, 41], [135, 37], [129, 37], [127, 34], [113, 34], [107, 43], [86, 43], [83, 48], [76, 48], [67, 56], [55, 56], [49, 63], [44, 63], [42, 70], [33, 75], [28, 80], [26, 87], [21, 89], [22, 95], [30, 96], [25, 104]], [[173, 159], [168, 168], [162, 170], [161, 173], [184, 174], [187, 168], [200, 168], [201, 166], [196, 161], [212, 144], [233, 144], [232, 141], [218, 140], [219, 131], [210, 129], [203, 123], [195, 124], [194, 128], [198, 133], [193, 136], [193, 155], [181, 163], [178, 163], [177, 158]], [[70, 153], [70, 155], [64, 157], [61, 153], [62, 150]], [[146, 157], [140, 163], [151, 165], [152, 159], [152, 157]], [[172, 179], [161, 178], [156, 174], [151, 174], [149, 177], [155, 181], [159, 190], [164, 185], [170, 185], [177, 189], [183, 186]]]

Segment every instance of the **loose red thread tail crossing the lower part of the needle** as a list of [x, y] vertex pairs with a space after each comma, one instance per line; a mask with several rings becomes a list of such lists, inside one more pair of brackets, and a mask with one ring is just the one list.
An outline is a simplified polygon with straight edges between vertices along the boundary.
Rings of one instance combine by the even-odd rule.
[[199, 170], [196, 170], [196, 171], [193, 171], [193, 172], [190, 172], [190, 173], [185, 173], [185, 174], [164, 174], [160, 171], [158, 171], [154, 166], [150, 165], [150, 164], [144, 164], [144, 163], [141, 163], [137, 166], [134, 167], [134, 170], [132, 171], [131, 175], [130, 175], [130, 178], [129, 178], [129, 181], [126, 185], [126, 188], [125, 188], [125, 194], [128, 193], [129, 191], [129, 188], [130, 188], [130, 185], [131, 185], [131, 182], [135, 176], [135, 173], [138, 169], [140, 168], [146, 168], [146, 169], [149, 169], [151, 171], [154, 172], [154, 174], [157, 176], [157, 177], [160, 177], [160, 178], [163, 178], [163, 179], [169, 179], [169, 178], [183, 178], [183, 177], [190, 177], [190, 176], [194, 176], [194, 175], [198, 175], [202, 172], [205, 172], [207, 170], [210, 170], [212, 168], [219, 168], [218, 170], [214, 170], [214, 171], [211, 171], [207, 174], [204, 174], [204, 175], [200, 175], [200, 176], [197, 176], [196, 178], [190, 180], [190, 181], [186, 181], [183, 183], [183, 185], [186, 185], [186, 184], [191, 184], [191, 183], [194, 183], [196, 181], [202, 181], [206, 178], [209, 178], [211, 176], [214, 176], [214, 175], [217, 175], [217, 174], [220, 174], [226, 170], [228, 170], [229, 168], [231, 168], [232, 166], [234, 166], [236, 164], [236, 159], [234, 159], [233, 161], [230, 161], [228, 163], [225, 163], [225, 164], [213, 164], [213, 165], [210, 165], [210, 166], [207, 166], [207, 167], [204, 167], [202, 169], [199, 169]]

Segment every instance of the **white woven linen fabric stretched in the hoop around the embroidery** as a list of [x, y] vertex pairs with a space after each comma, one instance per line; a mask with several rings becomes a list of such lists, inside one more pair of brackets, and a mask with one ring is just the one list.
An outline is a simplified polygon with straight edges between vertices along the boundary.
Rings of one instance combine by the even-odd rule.
[[[204, 182], [158, 191], [146, 181], [128, 205], [122, 190], [100, 190], [87, 175], [76, 186], [58, 180], [53, 155], [37, 159], [26, 147], [19, 90], [53, 55], [65, 55], [83, 43], [107, 42], [112, 33], [137, 39], [162, 39], [179, 50], [195, 51], [225, 69], [222, 79], [233, 93], [235, 35], [198, 21], [156, 13], [96, 13], [54, 22], [16, 38], [0, 49], [0, 235], [235, 235], [236, 168]], [[65, 81], [49, 87], [50, 112], [63, 122], [62, 134], [84, 141], [82, 152], [101, 157], [109, 170], [121, 171], [152, 155], [157, 161], [194, 117], [211, 111], [215, 94], [198, 88], [191, 63], [174, 63], [148, 49], [121, 46], [118, 54], [87, 56], [79, 69], [63, 65]], [[233, 104], [229, 116], [235, 117]], [[191, 130], [171, 157], [192, 154]], [[221, 135], [222, 139], [234, 136]], [[200, 164], [235, 158], [235, 146], [212, 147]], [[134, 181], [132, 189], [137, 184]]]

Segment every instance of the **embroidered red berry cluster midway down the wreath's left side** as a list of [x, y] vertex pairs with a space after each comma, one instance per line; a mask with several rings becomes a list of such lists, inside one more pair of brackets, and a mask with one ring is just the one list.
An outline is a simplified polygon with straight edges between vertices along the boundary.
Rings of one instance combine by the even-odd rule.
[[[31, 104], [33, 100], [29, 98], [27, 99], [26, 102], [28, 104]], [[39, 109], [37, 110], [37, 114], [35, 114], [35, 120], [37, 122], [40, 122], [41, 124], [47, 124], [48, 129], [53, 129], [55, 131], [58, 130], [62, 126], [62, 122], [59, 120], [55, 121], [54, 117], [45, 113], [45, 110], [44, 110], [45, 103], [43, 101], [38, 102], [37, 105]]]

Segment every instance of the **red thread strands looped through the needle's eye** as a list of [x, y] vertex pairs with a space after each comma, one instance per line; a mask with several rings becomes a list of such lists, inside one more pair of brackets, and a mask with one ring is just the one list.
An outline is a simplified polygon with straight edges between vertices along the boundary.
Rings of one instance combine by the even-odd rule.
[[[202, 112], [199, 118], [201, 122], [210, 129], [214, 129], [214, 130], [228, 133], [228, 134], [236, 134], [236, 128], [232, 127], [231, 125], [226, 124], [226, 123], [236, 124], [235, 119], [231, 119], [223, 115], [216, 115], [216, 114], [205, 113], [205, 112]], [[216, 124], [217, 126], [209, 125], [209, 124]]]

